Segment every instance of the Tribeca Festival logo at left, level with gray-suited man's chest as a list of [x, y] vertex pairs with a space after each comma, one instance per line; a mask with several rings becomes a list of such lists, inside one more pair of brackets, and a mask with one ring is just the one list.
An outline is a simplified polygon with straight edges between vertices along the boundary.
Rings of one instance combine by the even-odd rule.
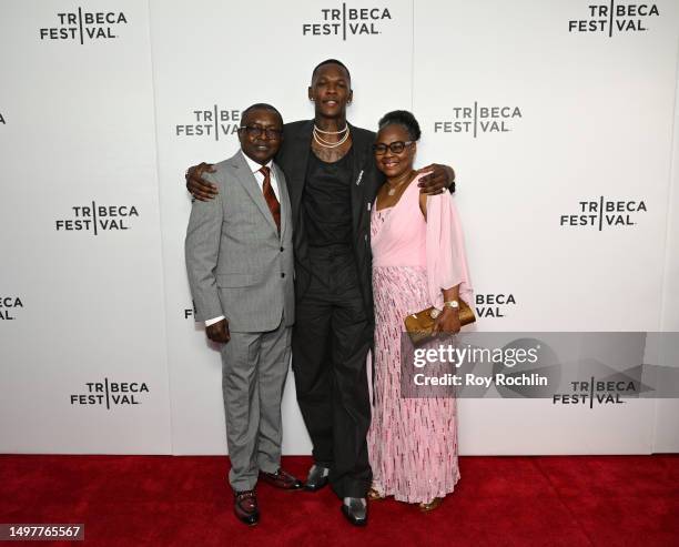
[[134, 205], [98, 205], [91, 202], [88, 205], [73, 205], [73, 216], [70, 219], [58, 219], [57, 232], [119, 232], [130, 230], [133, 219], [139, 217], [139, 211]]

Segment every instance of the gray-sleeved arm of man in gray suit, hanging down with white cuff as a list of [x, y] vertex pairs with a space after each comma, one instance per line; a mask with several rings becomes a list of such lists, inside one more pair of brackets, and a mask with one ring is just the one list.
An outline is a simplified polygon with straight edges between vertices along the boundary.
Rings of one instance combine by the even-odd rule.
[[[204, 173], [203, 176], [219, 188], [214, 174]], [[219, 193], [214, 196], [216, 199], [207, 201], [193, 200], [184, 253], [195, 317], [209, 323], [205, 334], [210, 340], [226, 343], [230, 340], [229, 322], [224, 318], [215, 277], [224, 210]], [[220, 320], [213, 322], [215, 318]]]

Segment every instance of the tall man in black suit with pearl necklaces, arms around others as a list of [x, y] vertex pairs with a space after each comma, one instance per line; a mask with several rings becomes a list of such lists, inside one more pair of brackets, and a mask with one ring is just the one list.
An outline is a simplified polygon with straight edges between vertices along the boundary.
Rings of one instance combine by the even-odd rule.
[[[287, 181], [295, 251], [296, 322], [293, 371], [297, 402], [313, 443], [307, 490], [328, 480], [354, 525], [367, 523], [372, 472], [366, 359], [373, 342], [371, 206], [384, 178], [375, 166], [375, 133], [346, 121], [348, 69], [337, 60], [313, 71], [314, 120], [287, 123], [275, 158]], [[209, 200], [216, 189], [188, 171], [188, 189]], [[429, 165], [420, 185], [439, 193], [454, 184], [448, 166]], [[424, 171], [423, 170], [423, 171]]]

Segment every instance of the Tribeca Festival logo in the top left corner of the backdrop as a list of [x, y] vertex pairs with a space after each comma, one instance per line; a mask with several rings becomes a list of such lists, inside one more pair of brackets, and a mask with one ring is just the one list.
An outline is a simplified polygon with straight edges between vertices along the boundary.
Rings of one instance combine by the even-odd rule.
[[40, 29], [40, 40], [75, 40], [81, 45], [85, 40], [113, 40], [118, 28], [128, 24], [122, 11], [64, 11], [57, 13], [54, 27]]

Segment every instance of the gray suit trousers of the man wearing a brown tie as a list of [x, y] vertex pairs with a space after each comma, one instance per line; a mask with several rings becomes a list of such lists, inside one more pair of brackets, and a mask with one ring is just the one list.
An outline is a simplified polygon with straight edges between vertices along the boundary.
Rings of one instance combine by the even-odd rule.
[[281, 321], [265, 333], [231, 333], [222, 345], [222, 391], [229, 482], [236, 492], [251, 490], [260, 470], [281, 466], [281, 399], [291, 355], [291, 331]]

